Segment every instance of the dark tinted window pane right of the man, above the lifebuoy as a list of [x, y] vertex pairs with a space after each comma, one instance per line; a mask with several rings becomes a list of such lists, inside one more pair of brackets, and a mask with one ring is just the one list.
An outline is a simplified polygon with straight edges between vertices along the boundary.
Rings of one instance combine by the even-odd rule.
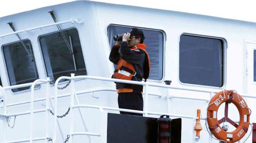
[[180, 36], [180, 81], [204, 86], [223, 86], [221, 39]]

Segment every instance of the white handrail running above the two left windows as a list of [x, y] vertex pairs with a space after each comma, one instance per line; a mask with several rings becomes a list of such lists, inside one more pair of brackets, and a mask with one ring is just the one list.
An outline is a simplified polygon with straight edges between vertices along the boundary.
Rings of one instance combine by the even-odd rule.
[[70, 20], [67, 20], [67, 21], [56, 22], [56, 23], [46, 24], [46, 25], [42, 25], [42, 26], [38, 26], [38, 27], [29, 28], [29, 29], [19, 30], [19, 31], [16, 31], [16, 32], [7, 33], [7, 34], [4, 34], [4, 35], [0, 35], [0, 38], [4, 38], [6, 36], [10, 36], [10, 35], [14, 35], [14, 34], [19, 34], [19, 33], [27, 32], [27, 31], [31, 31], [31, 30], [42, 29], [42, 28], [50, 27], [50, 26], [54, 26], [54, 25], [60, 25], [60, 24], [64, 24], [64, 23], [83, 24], [84, 22], [83, 22], [83, 20], [79, 21], [77, 19], [71, 18]]

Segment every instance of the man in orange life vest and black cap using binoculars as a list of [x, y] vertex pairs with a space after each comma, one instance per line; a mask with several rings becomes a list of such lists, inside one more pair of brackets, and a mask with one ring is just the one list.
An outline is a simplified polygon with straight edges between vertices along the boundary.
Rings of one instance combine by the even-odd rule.
[[[112, 47], [109, 55], [109, 60], [117, 64], [112, 78], [146, 81], [149, 77], [150, 60], [145, 50], [146, 45], [143, 44], [145, 37], [142, 30], [133, 28], [130, 33], [114, 36], [114, 39], [119, 41]], [[119, 108], [143, 111], [143, 86], [116, 82], [116, 89]], [[143, 115], [123, 111], [120, 111], [120, 114]]]

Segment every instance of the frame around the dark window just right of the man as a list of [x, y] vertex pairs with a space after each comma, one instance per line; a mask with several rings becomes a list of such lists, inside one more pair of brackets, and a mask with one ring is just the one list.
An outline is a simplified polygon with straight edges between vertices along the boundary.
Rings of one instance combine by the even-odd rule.
[[216, 87], [216, 86], [205, 86], [205, 85], [199, 85], [199, 84], [188, 84], [188, 83], [183, 83], [180, 81], [180, 45], [178, 47], [178, 80], [180, 84], [186, 85], [186, 86], [195, 86], [195, 87], [204, 87], [204, 88], [214, 88], [214, 89], [224, 89], [226, 87], [227, 83], [227, 40], [222, 37], [216, 37], [216, 36], [207, 36], [207, 35], [200, 35], [200, 34], [191, 34], [191, 33], [182, 33], [179, 36], [179, 43], [180, 43], [180, 37], [182, 35], [187, 35], [187, 36], [195, 36], [195, 37], [202, 37], [202, 38], [212, 38], [212, 39], [219, 39], [222, 40], [223, 42], [223, 85], [222, 87]]

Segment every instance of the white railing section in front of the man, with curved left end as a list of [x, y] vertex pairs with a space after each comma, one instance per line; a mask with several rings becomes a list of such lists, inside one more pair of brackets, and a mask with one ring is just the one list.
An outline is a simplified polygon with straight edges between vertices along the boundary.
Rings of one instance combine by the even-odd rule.
[[[200, 90], [200, 89], [192, 89], [192, 88], [182, 88], [182, 87], [175, 87], [175, 86], [169, 86], [169, 85], [163, 85], [163, 84], [155, 84], [155, 83], [147, 83], [147, 82], [138, 82], [138, 81], [131, 81], [131, 80], [120, 80], [120, 79], [111, 79], [111, 78], [104, 78], [104, 77], [93, 77], [93, 76], [83, 76], [83, 75], [80, 75], [80, 76], [74, 76], [74, 74], [71, 74], [71, 77], [60, 77], [56, 80], [56, 83], [55, 83], [55, 98], [57, 98], [57, 84], [60, 80], [62, 79], [69, 79], [71, 80], [71, 85], [74, 84], [74, 81], [75, 79], [93, 79], [93, 80], [103, 80], [103, 81], [111, 81], [111, 82], [122, 82], [122, 83], [128, 83], [128, 84], [137, 84], [137, 85], [143, 85], [145, 86], [145, 106], [144, 106], [144, 111], [134, 111], [134, 110], [128, 110], [128, 109], [119, 109], [119, 108], [113, 108], [113, 107], [101, 107], [101, 106], [94, 106], [94, 105], [73, 105], [73, 102], [72, 102], [72, 98], [74, 98], [74, 89], [71, 89], [71, 104], [70, 104], [70, 107], [71, 107], [71, 110], [73, 110], [73, 108], [79, 108], [79, 107], [90, 107], [90, 108], [98, 108], [100, 109], [101, 111], [103, 109], [108, 109], [108, 110], [116, 110], [116, 111], [128, 111], [128, 112], [133, 112], [133, 113], [143, 113], [144, 116], [148, 116], [148, 114], [154, 114], [154, 115], [162, 115], [162, 114], [166, 114], [166, 113], [149, 113], [148, 112], [148, 93], [147, 93], [147, 89], [148, 89], [148, 86], [154, 86], [154, 87], [160, 87], [160, 88], [167, 88], [167, 89], [182, 89], [182, 90], [189, 90], [189, 91], [198, 91], [198, 92], [206, 92], [206, 93], [210, 93], [210, 98], [213, 97], [213, 94], [214, 93], [217, 93], [219, 91], [213, 91], [213, 90]], [[74, 86], [74, 85], [73, 85]], [[72, 87], [71, 87], [72, 88]], [[253, 95], [246, 95], [246, 97], [251, 97], [251, 98], [256, 98], [255, 96]], [[168, 98], [167, 98], [168, 99]], [[167, 102], [167, 107], [169, 107], [169, 101]], [[55, 107], [57, 109], [57, 100], [55, 100]], [[56, 110], [55, 109], [55, 110]], [[195, 116], [182, 116], [182, 115], [173, 115], [173, 114], [169, 114], [167, 113], [167, 115], [170, 115], [170, 116], [174, 116], [174, 117], [180, 117], [180, 118], [192, 118], [193, 119], [193, 123], [194, 123], [194, 120], [196, 119]], [[56, 117], [55, 117], [56, 119]], [[73, 118], [71, 118], [71, 127], [73, 127]], [[54, 124], [54, 139], [56, 139], [56, 120], [55, 120], [55, 124]], [[87, 134], [88, 132], [84, 132], [84, 134]], [[95, 134], [98, 134], [98, 133], [95, 133]], [[73, 128], [70, 129], [70, 142], [72, 143], [72, 138], [73, 138]], [[211, 135], [209, 135], [211, 136]], [[53, 142], [55, 143], [56, 140], [54, 140]], [[212, 138], [209, 137], [209, 142], [212, 142]]]

